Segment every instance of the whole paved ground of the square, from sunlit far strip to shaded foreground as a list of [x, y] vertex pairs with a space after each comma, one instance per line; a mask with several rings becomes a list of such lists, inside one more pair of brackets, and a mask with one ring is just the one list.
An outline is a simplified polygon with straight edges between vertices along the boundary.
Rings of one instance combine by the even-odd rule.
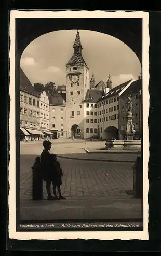
[[[102, 142], [52, 141], [51, 153], [83, 153], [84, 146], [100, 148]], [[93, 144], [92, 144], [93, 143]], [[42, 142], [21, 143], [20, 147], [20, 212], [23, 219], [60, 218], [140, 218], [141, 200], [133, 199], [126, 191], [133, 189], [132, 162], [106, 162], [60, 158], [63, 170], [62, 195], [67, 199], [49, 202], [44, 182], [44, 200], [32, 201], [32, 165], [43, 150]], [[75, 152], [75, 153], [74, 153]], [[79, 153], [78, 153], [79, 152]], [[92, 154], [89, 154], [92, 155]], [[105, 154], [108, 155], [108, 154]], [[111, 154], [110, 154], [111, 155]], [[125, 154], [126, 155], [126, 154]], [[120, 157], [117, 154], [117, 157]], [[83, 159], [83, 157], [82, 157]]]

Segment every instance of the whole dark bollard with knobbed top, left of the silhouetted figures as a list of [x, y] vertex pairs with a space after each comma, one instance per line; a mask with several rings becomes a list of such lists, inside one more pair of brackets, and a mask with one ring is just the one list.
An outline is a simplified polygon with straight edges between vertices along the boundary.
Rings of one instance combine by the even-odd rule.
[[43, 174], [40, 157], [35, 158], [33, 170], [33, 200], [41, 200], [43, 198]]

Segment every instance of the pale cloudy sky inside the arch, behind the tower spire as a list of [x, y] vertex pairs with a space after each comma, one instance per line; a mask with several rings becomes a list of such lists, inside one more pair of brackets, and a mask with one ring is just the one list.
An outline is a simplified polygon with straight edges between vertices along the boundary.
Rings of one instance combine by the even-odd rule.
[[[72, 57], [77, 30], [61, 30], [33, 40], [23, 51], [20, 66], [31, 83], [65, 84], [65, 65]], [[138, 79], [141, 65], [137, 55], [119, 39], [100, 32], [79, 30], [82, 55], [94, 73], [96, 84], [106, 83], [109, 73], [115, 87], [132, 78]], [[90, 80], [90, 79], [89, 79]]]

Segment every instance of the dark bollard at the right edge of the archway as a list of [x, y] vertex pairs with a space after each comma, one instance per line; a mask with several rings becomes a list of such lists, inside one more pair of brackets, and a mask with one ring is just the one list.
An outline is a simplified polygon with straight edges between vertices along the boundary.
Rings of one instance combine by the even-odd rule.
[[137, 157], [133, 169], [133, 197], [142, 198], [143, 196], [143, 168], [142, 158]]

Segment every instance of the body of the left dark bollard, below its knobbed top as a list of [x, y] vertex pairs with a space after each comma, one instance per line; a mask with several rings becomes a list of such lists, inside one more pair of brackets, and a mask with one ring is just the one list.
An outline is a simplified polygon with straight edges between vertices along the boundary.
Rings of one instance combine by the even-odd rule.
[[33, 169], [32, 198], [33, 200], [43, 199], [43, 178], [39, 169]]

